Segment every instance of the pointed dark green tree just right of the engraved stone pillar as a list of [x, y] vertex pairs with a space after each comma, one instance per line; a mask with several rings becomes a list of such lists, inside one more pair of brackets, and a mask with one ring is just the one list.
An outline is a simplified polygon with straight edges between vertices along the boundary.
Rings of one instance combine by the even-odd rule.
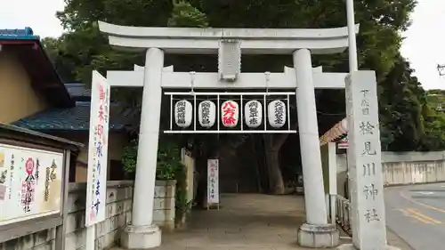
[[383, 146], [390, 151], [417, 150], [425, 133], [422, 117], [425, 91], [412, 73], [409, 62], [398, 55], [378, 86]]

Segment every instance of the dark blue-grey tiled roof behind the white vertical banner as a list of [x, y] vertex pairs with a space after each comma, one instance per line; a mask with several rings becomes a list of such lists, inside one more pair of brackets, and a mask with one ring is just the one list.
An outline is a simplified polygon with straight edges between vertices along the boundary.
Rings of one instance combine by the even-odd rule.
[[[130, 125], [134, 117], [132, 109], [123, 109], [118, 103], [110, 105], [109, 130], [116, 131]], [[47, 109], [25, 117], [12, 125], [35, 131], [88, 131], [90, 126], [90, 102], [77, 101], [70, 109]]]

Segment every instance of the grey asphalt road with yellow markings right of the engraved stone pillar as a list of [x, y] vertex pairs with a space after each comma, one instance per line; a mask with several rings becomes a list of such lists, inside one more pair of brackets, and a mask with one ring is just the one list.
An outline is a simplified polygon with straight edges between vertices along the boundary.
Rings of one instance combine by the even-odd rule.
[[416, 250], [445, 249], [445, 183], [384, 190], [386, 224]]

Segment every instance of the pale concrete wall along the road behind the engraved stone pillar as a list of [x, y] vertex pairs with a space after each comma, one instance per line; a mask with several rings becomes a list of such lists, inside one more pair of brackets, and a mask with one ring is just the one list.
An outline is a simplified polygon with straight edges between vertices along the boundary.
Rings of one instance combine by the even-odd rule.
[[[346, 156], [337, 155], [338, 193], [344, 194]], [[445, 151], [382, 152], [384, 185], [445, 181]]]

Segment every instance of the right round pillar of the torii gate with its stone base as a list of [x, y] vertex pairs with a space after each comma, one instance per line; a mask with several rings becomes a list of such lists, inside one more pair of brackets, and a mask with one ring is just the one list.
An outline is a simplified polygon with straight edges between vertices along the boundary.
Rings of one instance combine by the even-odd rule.
[[315, 105], [311, 52], [308, 49], [294, 52], [294, 67], [297, 82], [296, 106], [306, 211], [306, 223], [298, 230], [298, 244], [310, 247], [337, 246], [339, 232], [336, 230], [336, 225], [328, 224], [328, 212], [324, 200], [319, 125]]

